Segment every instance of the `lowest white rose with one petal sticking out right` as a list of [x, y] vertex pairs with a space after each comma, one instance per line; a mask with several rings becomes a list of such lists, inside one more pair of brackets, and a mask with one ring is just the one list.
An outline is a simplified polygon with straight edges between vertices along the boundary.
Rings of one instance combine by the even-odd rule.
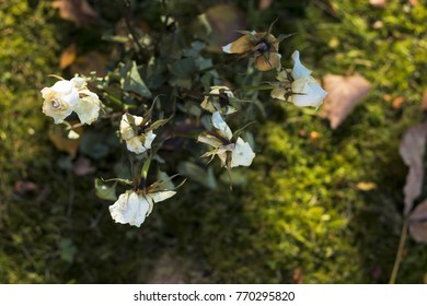
[[175, 193], [175, 191], [168, 190], [139, 195], [134, 190], [127, 190], [109, 207], [109, 213], [116, 223], [129, 223], [129, 225], [139, 227], [150, 214], [153, 203], [166, 200]]

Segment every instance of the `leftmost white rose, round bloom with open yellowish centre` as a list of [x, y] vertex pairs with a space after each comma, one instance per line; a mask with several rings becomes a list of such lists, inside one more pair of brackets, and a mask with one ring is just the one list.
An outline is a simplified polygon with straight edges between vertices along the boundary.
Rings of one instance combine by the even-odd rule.
[[58, 81], [51, 87], [44, 87], [42, 95], [43, 113], [53, 117], [55, 123], [61, 123], [65, 118], [71, 115], [79, 103], [79, 92], [70, 81]]

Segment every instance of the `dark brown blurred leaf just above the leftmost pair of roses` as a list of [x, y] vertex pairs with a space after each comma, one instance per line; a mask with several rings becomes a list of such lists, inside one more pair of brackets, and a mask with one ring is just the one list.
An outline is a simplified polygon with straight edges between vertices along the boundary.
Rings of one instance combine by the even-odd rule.
[[108, 58], [105, 55], [90, 51], [77, 58], [70, 67], [70, 72], [71, 74], [89, 75], [92, 71], [96, 71], [96, 76], [102, 78], [106, 74], [107, 62]]

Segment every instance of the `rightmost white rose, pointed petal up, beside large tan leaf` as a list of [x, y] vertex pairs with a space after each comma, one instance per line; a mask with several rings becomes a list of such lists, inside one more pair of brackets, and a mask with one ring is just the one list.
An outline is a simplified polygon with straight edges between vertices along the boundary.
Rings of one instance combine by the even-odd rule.
[[301, 63], [298, 50], [292, 54], [292, 78], [295, 81], [291, 84], [293, 94], [289, 97], [289, 101], [297, 106], [319, 107], [327, 92], [311, 76], [312, 71]]

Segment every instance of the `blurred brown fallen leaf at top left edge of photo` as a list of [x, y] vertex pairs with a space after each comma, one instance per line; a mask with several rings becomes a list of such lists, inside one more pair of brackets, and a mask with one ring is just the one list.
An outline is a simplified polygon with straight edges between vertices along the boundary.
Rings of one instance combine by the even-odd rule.
[[88, 0], [56, 0], [51, 7], [59, 9], [59, 15], [76, 23], [77, 26], [91, 24], [99, 19]]

